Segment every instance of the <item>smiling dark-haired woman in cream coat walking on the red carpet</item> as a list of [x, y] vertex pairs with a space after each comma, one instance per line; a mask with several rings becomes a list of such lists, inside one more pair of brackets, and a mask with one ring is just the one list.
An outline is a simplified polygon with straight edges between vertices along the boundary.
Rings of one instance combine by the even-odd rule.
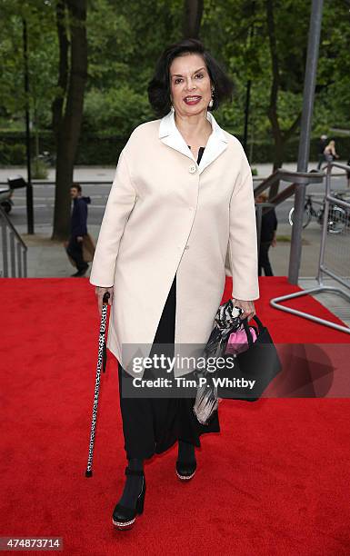
[[[211, 114], [231, 93], [231, 81], [199, 41], [166, 48], [148, 85], [159, 119], [131, 134], [106, 204], [90, 282], [100, 311], [111, 293], [107, 347], [119, 362], [128, 465], [113, 513], [118, 529], [143, 511], [146, 459], [178, 442], [175, 470], [188, 481], [200, 435], [220, 430], [217, 412], [207, 426], [196, 421], [193, 398], [122, 395], [135, 376], [155, 376], [155, 369], [135, 370], [134, 354], [174, 355], [175, 347], [178, 353], [206, 343], [225, 286], [227, 249], [235, 305], [242, 318], [255, 314], [252, 175], [241, 144]], [[170, 376], [169, 369], [158, 374]], [[171, 376], [188, 372], [174, 368]]]

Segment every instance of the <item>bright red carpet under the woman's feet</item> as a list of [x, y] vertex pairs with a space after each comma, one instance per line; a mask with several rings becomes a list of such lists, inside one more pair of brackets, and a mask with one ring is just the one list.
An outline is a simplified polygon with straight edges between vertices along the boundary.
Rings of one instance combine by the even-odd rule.
[[[271, 297], [298, 289], [285, 278], [260, 284], [257, 313], [276, 343], [350, 342], [272, 309]], [[134, 530], [115, 531], [125, 456], [110, 354], [95, 474], [85, 478], [99, 323], [94, 288], [87, 279], [2, 279], [0, 298], [0, 536], [63, 537], [67, 555], [350, 553], [348, 400], [222, 402], [222, 432], [203, 437], [194, 480], [176, 479], [175, 447], [153, 458], [144, 515]], [[331, 316], [313, 299], [289, 303]]]

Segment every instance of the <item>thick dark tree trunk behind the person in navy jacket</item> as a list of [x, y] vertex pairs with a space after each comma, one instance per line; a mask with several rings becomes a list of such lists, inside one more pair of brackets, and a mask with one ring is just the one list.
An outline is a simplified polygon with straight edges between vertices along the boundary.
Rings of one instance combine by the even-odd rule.
[[86, 4], [86, 0], [58, 0], [56, 6], [59, 72], [58, 94], [53, 104], [56, 177], [52, 239], [59, 240], [65, 240], [69, 234], [69, 189], [73, 184], [75, 154], [83, 119], [87, 78]]

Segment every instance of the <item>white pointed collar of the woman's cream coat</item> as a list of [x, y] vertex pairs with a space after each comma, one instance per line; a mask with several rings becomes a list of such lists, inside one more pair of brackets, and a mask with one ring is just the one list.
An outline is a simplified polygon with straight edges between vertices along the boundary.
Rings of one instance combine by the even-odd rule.
[[[205, 145], [204, 154], [198, 165], [199, 174], [201, 174], [206, 166], [211, 164], [219, 154], [225, 151], [228, 143], [224, 130], [219, 124], [217, 124], [214, 115], [207, 111], [206, 118], [212, 125], [212, 133], [210, 134], [207, 144]], [[159, 124], [159, 139], [163, 143], [174, 148], [176, 151], [185, 154], [185, 156], [195, 161], [194, 154], [191, 149], [188, 148], [184, 137], [177, 129], [174, 110], [171, 110], [161, 119]]]

